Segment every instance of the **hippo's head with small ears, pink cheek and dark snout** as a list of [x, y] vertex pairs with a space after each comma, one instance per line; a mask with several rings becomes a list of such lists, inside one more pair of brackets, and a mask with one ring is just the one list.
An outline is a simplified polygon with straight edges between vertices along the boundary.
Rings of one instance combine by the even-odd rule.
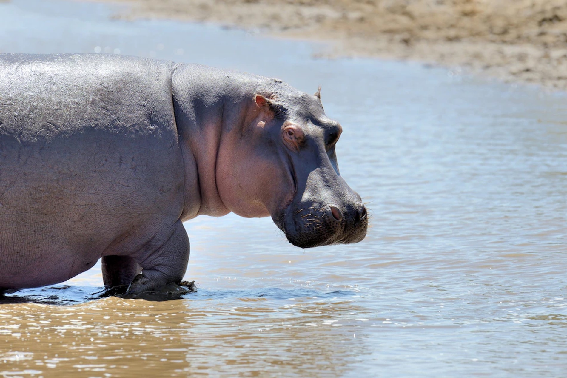
[[217, 176], [223, 201], [235, 197], [234, 188], [239, 192], [238, 201], [225, 201], [234, 204], [229, 209], [243, 216], [269, 213], [297, 247], [364, 239], [366, 208], [338, 171], [342, 128], [325, 115], [320, 90], [308, 95], [282, 83], [253, 95], [246, 113], [241, 142], [231, 143], [232, 152], [217, 165], [225, 167], [231, 186], [229, 194]]

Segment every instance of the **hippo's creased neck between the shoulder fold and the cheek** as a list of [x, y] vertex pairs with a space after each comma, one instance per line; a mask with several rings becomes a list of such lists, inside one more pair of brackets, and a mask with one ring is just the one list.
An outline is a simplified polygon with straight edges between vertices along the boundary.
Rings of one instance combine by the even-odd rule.
[[185, 176], [182, 220], [230, 213], [217, 188], [218, 151], [229, 131], [244, 128], [260, 79], [200, 65], [174, 71], [172, 100]]

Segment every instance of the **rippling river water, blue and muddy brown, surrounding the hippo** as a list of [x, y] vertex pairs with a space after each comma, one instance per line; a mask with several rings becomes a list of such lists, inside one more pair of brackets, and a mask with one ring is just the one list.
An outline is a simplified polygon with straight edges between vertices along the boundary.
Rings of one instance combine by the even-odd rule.
[[0, 305], [0, 375], [558, 377], [567, 369], [565, 94], [107, 5], [0, 4], [0, 51], [119, 52], [280, 77], [341, 122], [371, 224], [302, 250], [200, 217], [181, 300], [92, 298], [100, 266]]

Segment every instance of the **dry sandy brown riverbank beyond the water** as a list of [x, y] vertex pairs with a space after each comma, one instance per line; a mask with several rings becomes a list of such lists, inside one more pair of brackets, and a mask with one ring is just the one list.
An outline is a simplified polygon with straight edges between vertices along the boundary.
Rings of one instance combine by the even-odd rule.
[[[96, 0], [91, 0], [96, 1]], [[110, 1], [110, 0], [99, 0]], [[119, 0], [121, 18], [216, 22], [335, 41], [338, 56], [461, 66], [567, 89], [565, 0]]]

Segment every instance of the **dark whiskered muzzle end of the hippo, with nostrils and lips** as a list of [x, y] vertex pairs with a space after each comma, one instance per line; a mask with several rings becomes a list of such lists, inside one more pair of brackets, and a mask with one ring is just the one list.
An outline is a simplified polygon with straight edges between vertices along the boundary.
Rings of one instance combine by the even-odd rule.
[[362, 202], [338, 205], [290, 205], [278, 226], [297, 247], [358, 243], [366, 236], [367, 210]]

